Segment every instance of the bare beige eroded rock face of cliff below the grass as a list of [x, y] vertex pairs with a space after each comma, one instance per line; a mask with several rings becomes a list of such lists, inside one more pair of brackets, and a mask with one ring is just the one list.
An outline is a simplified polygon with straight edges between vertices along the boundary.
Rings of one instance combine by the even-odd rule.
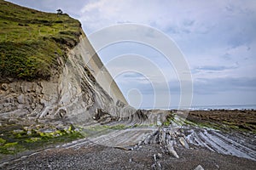
[[87, 37], [81, 36], [79, 44], [67, 55], [66, 62], [59, 59], [61, 74], [49, 81], [0, 83], [2, 125], [86, 124], [99, 119], [129, 120], [134, 116], [136, 110], [127, 105]]

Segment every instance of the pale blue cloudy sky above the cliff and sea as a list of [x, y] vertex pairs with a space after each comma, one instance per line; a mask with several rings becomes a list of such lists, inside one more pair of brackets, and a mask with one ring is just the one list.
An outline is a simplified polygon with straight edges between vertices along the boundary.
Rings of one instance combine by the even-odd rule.
[[[256, 105], [256, 3], [253, 0], [9, 2], [54, 13], [61, 8], [80, 20], [89, 39], [108, 26], [127, 23], [160, 31], [175, 42], [189, 65], [192, 105]], [[154, 47], [139, 42], [117, 42], [97, 53], [131, 105], [137, 108], [180, 105], [181, 86], [176, 65], [168, 63], [166, 56]]]

